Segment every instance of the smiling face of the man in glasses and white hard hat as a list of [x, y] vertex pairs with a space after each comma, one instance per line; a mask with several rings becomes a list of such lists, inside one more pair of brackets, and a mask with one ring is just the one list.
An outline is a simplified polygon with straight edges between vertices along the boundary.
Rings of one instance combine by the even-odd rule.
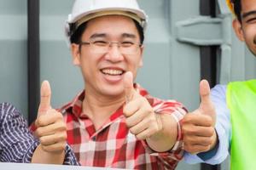
[[[102, 16], [88, 21], [82, 42], [136, 42], [139, 34], [133, 20], [120, 15]], [[72, 44], [73, 64], [81, 68], [86, 93], [102, 97], [123, 97], [123, 76], [131, 71], [136, 77], [143, 65], [143, 48], [133, 54], [122, 54], [116, 43], [105, 53], [98, 53], [91, 44]]]

